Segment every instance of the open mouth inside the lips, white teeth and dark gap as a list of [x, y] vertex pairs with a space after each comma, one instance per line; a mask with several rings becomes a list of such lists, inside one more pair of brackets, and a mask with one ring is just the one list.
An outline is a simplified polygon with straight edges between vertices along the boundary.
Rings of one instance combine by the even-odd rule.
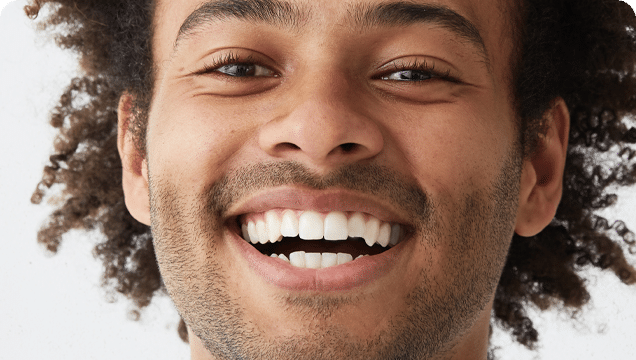
[[236, 218], [241, 238], [293, 267], [325, 269], [375, 257], [399, 244], [407, 226], [363, 212], [274, 209]]

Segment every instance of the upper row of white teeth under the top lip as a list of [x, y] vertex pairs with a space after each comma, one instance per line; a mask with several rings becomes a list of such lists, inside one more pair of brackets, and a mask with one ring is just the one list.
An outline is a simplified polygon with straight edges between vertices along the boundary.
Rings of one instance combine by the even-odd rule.
[[362, 213], [347, 214], [332, 211], [321, 214], [316, 211], [270, 210], [263, 216], [244, 217], [241, 225], [243, 238], [252, 244], [280, 241], [283, 237], [300, 237], [303, 240], [346, 240], [347, 237], [363, 238], [369, 246], [375, 243], [386, 247], [395, 245], [401, 235], [399, 224], [389, 224]]

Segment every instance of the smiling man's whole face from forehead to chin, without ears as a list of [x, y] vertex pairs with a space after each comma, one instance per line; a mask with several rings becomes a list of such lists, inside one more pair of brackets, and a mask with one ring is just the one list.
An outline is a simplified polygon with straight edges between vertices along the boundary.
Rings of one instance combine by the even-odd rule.
[[236, 3], [155, 16], [152, 229], [191, 341], [482, 356], [521, 171], [499, 1]]

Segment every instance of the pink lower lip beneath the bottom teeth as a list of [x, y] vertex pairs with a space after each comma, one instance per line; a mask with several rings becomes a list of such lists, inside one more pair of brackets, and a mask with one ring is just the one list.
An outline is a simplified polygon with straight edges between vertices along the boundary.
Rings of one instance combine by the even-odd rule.
[[237, 234], [231, 234], [250, 269], [270, 284], [294, 291], [343, 291], [369, 284], [391, 271], [405, 243], [402, 241], [381, 254], [364, 256], [346, 264], [306, 269], [263, 255]]

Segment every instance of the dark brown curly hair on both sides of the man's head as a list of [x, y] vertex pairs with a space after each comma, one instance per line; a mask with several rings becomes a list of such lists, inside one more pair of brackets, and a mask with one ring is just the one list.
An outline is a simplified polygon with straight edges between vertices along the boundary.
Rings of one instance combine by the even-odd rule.
[[[166, 291], [150, 229], [124, 204], [117, 106], [123, 92], [135, 95], [141, 116], [133, 133], [145, 153], [154, 2], [33, 0], [25, 12], [35, 18], [47, 3], [52, 13], [42, 28], [56, 34], [62, 48], [79, 53], [84, 75], [71, 81], [51, 115], [59, 133], [31, 201], [40, 203], [55, 184], [63, 188], [38, 242], [56, 252], [72, 229], [103, 233], [94, 249], [104, 265], [102, 285], [131, 299], [139, 314], [156, 292]], [[636, 182], [636, 128], [629, 126], [636, 116], [636, 15], [620, 0], [524, 0], [510, 8], [517, 44], [510, 85], [523, 156], [537, 150], [545, 133], [542, 116], [556, 98], [571, 114], [556, 216], [536, 236], [513, 237], [493, 305], [491, 324], [533, 349], [538, 332], [528, 307], [580, 309], [590, 297], [581, 275], [586, 268], [636, 282], [625, 257], [636, 254], [636, 236], [624, 222], [610, 225], [597, 214], [617, 201], [617, 189]], [[179, 335], [187, 341], [183, 320]]]

